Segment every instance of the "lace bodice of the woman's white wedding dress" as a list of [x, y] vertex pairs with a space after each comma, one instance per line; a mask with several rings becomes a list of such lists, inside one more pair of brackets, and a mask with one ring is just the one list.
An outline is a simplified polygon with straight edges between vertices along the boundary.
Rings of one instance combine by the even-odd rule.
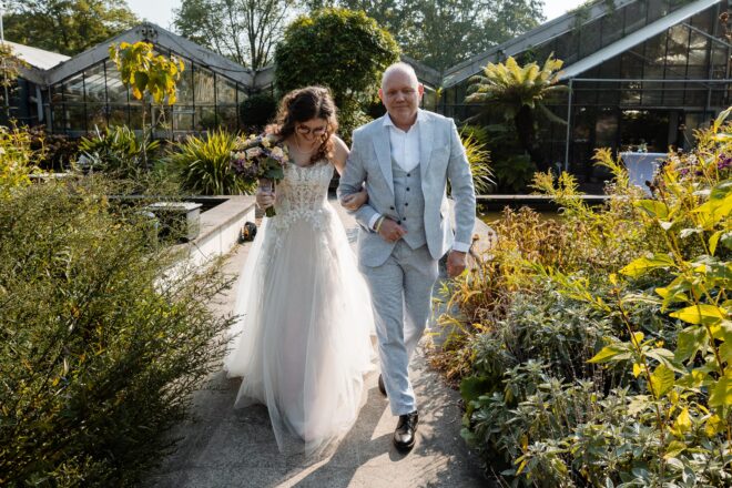
[[276, 186], [277, 214], [271, 225], [284, 230], [293, 222], [307, 220], [316, 228], [323, 228], [329, 217], [327, 199], [332, 179], [333, 165], [325, 160], [311, 166], [285, 163], [285, 177]]

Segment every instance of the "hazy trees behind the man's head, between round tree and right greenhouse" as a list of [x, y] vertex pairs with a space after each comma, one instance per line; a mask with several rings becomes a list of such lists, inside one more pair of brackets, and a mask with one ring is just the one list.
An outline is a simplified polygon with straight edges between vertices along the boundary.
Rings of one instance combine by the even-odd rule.
[[543, 0], [306, 0], [363, 10], [405, 54], [444, 70], [543, 21]]

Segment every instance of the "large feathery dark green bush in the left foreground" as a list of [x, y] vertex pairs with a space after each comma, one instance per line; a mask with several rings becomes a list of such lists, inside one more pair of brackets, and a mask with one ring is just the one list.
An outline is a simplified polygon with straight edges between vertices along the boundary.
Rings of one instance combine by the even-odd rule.
[[135, 207], [87, 177], [0, 205], [0, 485], [133, 486], [216, 367], [216, 271], [171, 274]]

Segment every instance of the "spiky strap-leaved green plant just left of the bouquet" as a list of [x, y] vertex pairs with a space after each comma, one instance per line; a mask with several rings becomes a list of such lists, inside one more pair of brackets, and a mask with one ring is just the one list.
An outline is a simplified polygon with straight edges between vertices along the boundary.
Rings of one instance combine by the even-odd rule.
[[231, 166], [236, 138], [223, 130], [202, 138], [189, 136], [169, 153], [167, 164], [180, 174], [183, 190], [201, 195], [238, 195], [253, 193], [253, 183], [238, 177]]

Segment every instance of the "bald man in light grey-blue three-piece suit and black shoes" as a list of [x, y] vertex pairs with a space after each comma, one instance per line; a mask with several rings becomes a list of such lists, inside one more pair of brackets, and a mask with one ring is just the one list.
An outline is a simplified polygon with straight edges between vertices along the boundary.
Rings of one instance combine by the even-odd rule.
[[358, 264], [376, 318], [379, 390], [399, 417], [394, 445], [400, 450], [415, 444], [418, 414], [408, 366], [429, 318], [437, 261], [449, 252], [448, 275], [465, 270], [476, 215], [472, 176], [455, 123], [419, 109], [424, 91], [409, 64], [386, 69], [378, 94], [387, 114], [354, 132], [338, 186], [345, 206], [364, 183], [368, 191], [368, 203], [354, 212], [360, 225]]

